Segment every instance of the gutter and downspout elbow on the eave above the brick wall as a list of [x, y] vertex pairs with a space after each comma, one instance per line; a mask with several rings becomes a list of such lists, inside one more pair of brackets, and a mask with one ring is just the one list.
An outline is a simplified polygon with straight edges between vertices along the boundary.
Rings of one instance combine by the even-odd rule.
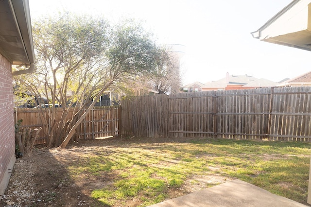
[[12, 75], [21, 75], [31, 73], [35, 70], [35, 52], [33, 35], [31, 28], [31, 18], [28, 0], [8, 0], [17, 33], [22, 39], [24, 52], [27, 54], [28, 63], [22, 65], [29, 66], [28, 69], [13, 71]]

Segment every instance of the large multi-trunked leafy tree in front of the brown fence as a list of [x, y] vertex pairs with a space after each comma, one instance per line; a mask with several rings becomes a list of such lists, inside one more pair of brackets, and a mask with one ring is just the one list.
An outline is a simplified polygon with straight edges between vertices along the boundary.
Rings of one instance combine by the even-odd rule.
[[[47, 147], [66, 147], [100, 96], [124, 77], [152, 74], [162, 49], [133, 20], [110, 26], [103, 18], [61, 14], [35, 22], [36, 72], [17, 82], [54, 106], [39, 108]], [[76, 112], [69, 117], [69, 108]], [[62, 110], [60, 121], [55, 121]], [[45, 118], [46, 117], [46, 118]]]

